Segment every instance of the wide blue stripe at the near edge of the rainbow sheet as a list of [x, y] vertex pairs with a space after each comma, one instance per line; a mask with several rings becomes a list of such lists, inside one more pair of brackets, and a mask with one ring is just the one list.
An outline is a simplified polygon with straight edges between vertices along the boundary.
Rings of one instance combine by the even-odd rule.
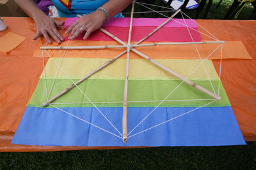
[[[92, 124], [118, 132], [95, 108], [61, 108]], [[154, 108], [128, 108], [128, 132]], [[157, 108], [132, 134], [195, 108]], [[122, 133], [122, 108], [99, 108]], [[13, 144], [45, 146], [220, 146], [245, 145], [230, 106], [204, 107], [142, 132], [123, 143], [122, 139], [87, 124], [56, 108], [27, 107]]]

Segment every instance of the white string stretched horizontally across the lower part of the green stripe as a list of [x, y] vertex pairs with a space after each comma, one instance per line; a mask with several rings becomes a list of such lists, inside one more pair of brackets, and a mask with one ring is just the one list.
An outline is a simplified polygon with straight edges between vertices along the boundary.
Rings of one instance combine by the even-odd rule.
[[[212, 101], [214, 99], [184, 99], [184, 100], [165, 100], [164, 102], [173, 102], [173, 101]], [[127, 103], [152, 103], [152, 102], [161, 102], [161, 101], [127, 101]], [[124, 103], [124, 101], [102, 101], [102, 102], [93, 102], [97, 104], [108, 104], [108, 103]], [[51, 103], [51, 104], [91, 104], [90, 102], [77, 102], [77, 103]]]

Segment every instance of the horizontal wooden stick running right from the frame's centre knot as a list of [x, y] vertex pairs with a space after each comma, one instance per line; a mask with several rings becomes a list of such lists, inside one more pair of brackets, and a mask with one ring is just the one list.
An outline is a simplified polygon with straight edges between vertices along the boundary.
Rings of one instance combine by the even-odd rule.
[[137, 46], [156, 46], [156, 45], [198, 45], [198, 44], [219, 44], [219, 43], [225, 43], [225, 41], [150, 43], [150, 44], [143, 44], [143, 45], [132, 45], [132, 47], [137, 47]]

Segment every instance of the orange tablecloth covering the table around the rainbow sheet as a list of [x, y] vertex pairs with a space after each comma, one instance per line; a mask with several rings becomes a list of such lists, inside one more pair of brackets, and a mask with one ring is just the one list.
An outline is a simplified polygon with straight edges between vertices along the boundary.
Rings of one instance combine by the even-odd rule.
[[[33, 41], [35, 24], [31, 18], [4, 18], [8, 25], [3, 36], [12, 31], [27, 39], [8, 55], [0, 53], [0, 152], [29, 152], [49, 150], [107, 149], [109, 147], [26, 146], [12, 145], [13, 135], [26, 109], [38, 77], [42, 59], [33, 57], [38, 40]], [[246, 141], [256, 140], [256, 21], [197, 20], [209, 32], [223, 41], [242, 41], [252, 60], [225, 59], [221, 81], [232, 104], [237, 122]], [[200, 28], [199, 28], [200, 29]], [[202, 35], [204, 40], [210, 40]], [[214, 60], [220, 69], [220, 60]], [[115, 147], [111, 147], [115, 148]]]

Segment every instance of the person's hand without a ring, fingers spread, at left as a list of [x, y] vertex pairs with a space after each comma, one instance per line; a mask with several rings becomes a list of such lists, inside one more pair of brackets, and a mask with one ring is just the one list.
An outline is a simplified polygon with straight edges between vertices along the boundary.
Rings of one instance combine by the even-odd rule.
[[62, 27], [64, 21], [58, 22], [54, 18], [48, 17], [47, 15], [38, 15], [34, 18], [36, 24], [36, 35], [33, 39], [37, 39], [41, 35], [47, 40], [48, 43], [51, 43], [52, 37], [57, 43], [63, 41], [63, 37], [60, 32], [58, 32], [57, 27]]

